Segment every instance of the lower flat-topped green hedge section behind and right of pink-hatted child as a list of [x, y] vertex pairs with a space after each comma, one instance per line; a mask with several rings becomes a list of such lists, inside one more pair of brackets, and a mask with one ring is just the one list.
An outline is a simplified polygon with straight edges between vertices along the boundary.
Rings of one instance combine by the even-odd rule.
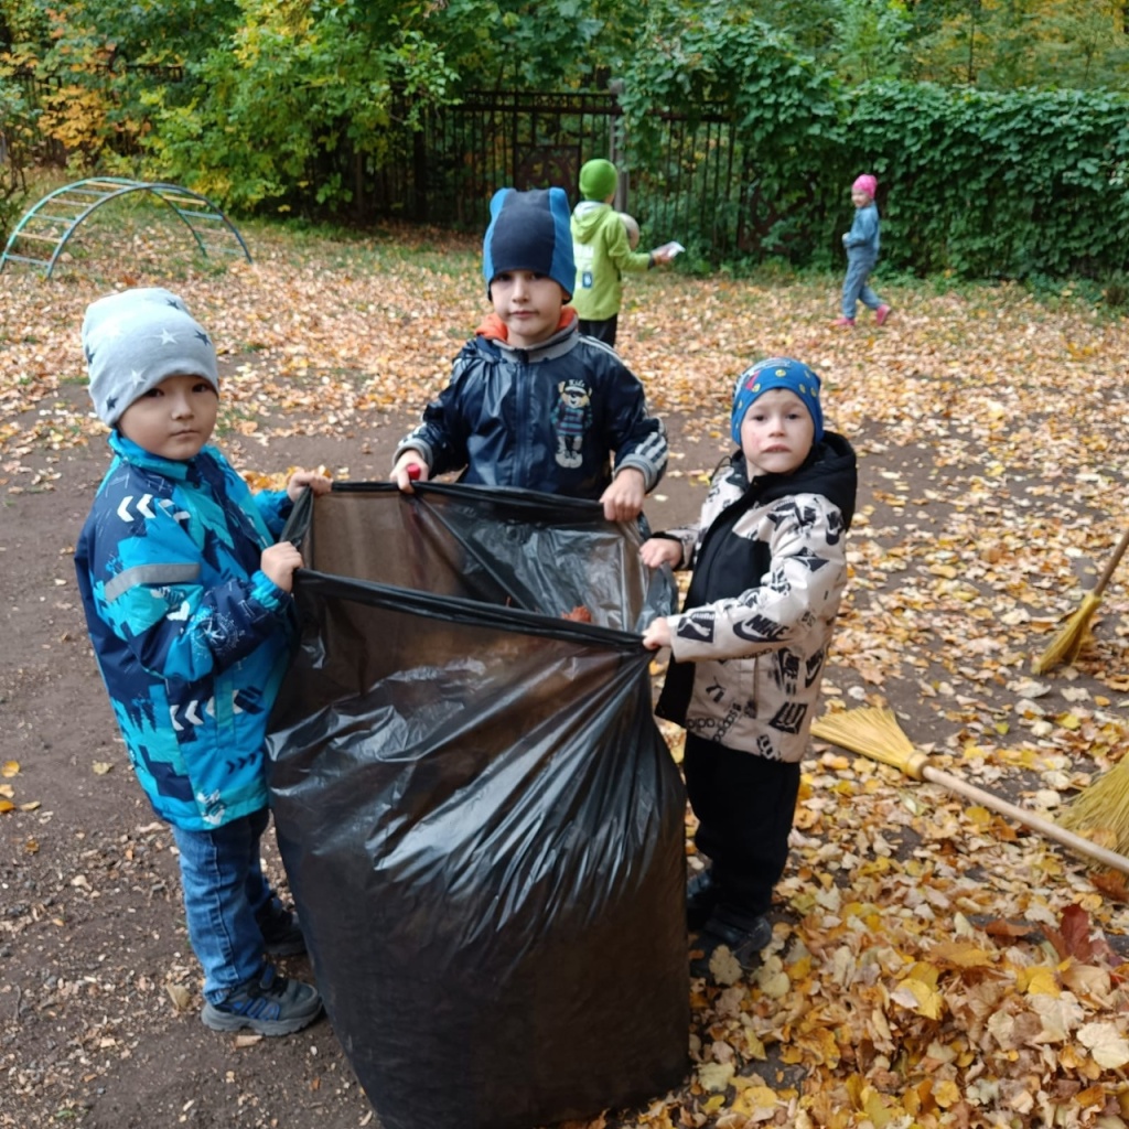
[[882, 184], [884, 257], [965, 277], [1103, 277], [1129, 253], [1129, 98], [875, 82], [844, 166]]

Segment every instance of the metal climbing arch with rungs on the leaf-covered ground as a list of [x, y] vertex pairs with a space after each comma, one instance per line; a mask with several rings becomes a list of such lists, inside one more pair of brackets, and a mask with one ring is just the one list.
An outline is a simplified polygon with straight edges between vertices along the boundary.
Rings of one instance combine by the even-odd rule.
[[[47, 193], [29, 208], [0, 254], [0, 271], [11, 263], [28, 263], [45, 269], [46, 277], [79, 225], [103, 204], [131, 192], [147, 192], [167, 204], [184, 221], [204, 257], [251, 252], [235, 225], [207, 196], [160, 181], [131, 181], [119, 176], [95, 176], [72, 181]], [[42, 252], [37, 254], [36, 252]]]

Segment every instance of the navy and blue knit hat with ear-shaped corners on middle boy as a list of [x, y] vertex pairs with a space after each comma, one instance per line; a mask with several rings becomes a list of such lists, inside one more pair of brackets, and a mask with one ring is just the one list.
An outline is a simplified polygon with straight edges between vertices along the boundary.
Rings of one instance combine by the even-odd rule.
[[567, 298], [576, 286], [572, 229], [563, 189], [499, 189], [490, 201], [482, 240], [482, 273], [490, 283], [506, 271], [534, 271], [557, 282]]

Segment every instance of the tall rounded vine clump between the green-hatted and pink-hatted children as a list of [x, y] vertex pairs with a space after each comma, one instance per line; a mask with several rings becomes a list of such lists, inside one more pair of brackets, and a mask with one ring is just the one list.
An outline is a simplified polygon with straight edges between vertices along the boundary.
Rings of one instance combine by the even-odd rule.
[[[828, 158], [839, 134], [830, 71], [725, 0], [656, 0], [623, 77], [628, 152], [666, 229], [708, 243], [717, 225], [737, 226], [743, 250], [758, 255], [806, 259], [815, 250], [822, 234], [796, 220], [825, 203]], [[729, 134], [718, 134], [706, 151], [673, 149], [663, 128], [667, 112], [684, 115], [689, 129], [707, 116], [732, 120], [732, 149]], [[709, 215], [664, 210], [660, 201], [674, 194], [714, 199], [707, 184], [726, 165], [742, 170], [739, 199]], [[700, 191], [690, 189], [694, 182]]]

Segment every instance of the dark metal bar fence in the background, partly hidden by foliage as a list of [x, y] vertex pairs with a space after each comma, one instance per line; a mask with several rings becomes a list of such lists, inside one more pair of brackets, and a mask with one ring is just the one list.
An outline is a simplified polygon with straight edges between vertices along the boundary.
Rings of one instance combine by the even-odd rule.
[[[131, 84], [182, 78], [180, 68], [117, 63], [104, 71], [111, 96], [123, 78]], [[16, 78], [41, 106], [62, 88], [58, 78]], [[394, 113], [392, 120], [405, 122], [409, 114]], [[614, 89], [471, 91], [457, 105], [429, 111], [422, 129], [391, 128], [379, 159], [341, 148], [312, 174], [315, 181], [330, 174], [347, 178], [356, 222], [399, 217], [478, 229], [489, 219], [497, 189], [555, 184], [575, 203], [580, 166], [607, 157], [621, 172], [616, 207], [630, 210], [656, 242], [694, 239], [715, 256], [749, 250], [772, 217], [758, 202], [732, 120], [720, 107], [702, 107], [693, 123], [668, 114], [660, 125], [660, 157], [636, 167]], [[123, 133], [114, 148], [135, 155], [135, 135]]]

